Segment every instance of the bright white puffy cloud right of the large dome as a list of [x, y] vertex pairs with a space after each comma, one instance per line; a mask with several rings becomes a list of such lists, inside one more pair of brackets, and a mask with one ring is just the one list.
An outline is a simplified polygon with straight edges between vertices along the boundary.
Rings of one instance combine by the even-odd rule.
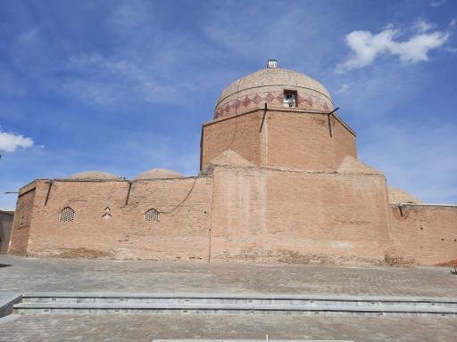
[[[420, 24], [418, 24], [418, 22]], [[431, 25], [425, 21], [416, 21], [420, 29], [430, 29]], [[380, 54], [393, 54], [406, 63], [428, 61], [428, 51], [445, 44], [449, 33], [434, 31], [421, 33], [410, 37], [409, 40], [398, 42], [395, 37], [399, 30], [386, 28], [378, 34], [370, 31], [353, 31], [346, 38], [346, 45], [353, 51], [349, 58], [338, 69], [360, 69], [373, 63]]]

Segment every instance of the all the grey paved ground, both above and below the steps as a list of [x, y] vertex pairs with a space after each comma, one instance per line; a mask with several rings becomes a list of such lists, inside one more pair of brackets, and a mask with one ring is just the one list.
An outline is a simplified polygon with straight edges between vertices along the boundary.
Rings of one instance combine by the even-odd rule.
[[[457, 297], [449, 268], [184, 264], [0, 256], [8, 292], [212, 292]], [[153, 338], [455, 341], [457, 320], [228, 314], [42, 314], [0, 319], [3, 341], [151, 341]]]

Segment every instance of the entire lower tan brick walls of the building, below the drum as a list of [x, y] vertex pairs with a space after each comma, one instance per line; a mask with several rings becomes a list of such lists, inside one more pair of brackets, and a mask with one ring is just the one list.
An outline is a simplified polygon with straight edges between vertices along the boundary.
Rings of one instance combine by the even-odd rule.
[[[18, 202], [10, 253], [378, 265], [457, 258], [457, 208], [406, 206], [401, 216], [384, 176], [357, 163], [345, 159], [337, 172], [216, 166], [196, 182], [136, 181], [130, 192], [127, 181], [54, 181], [47, 203], [49, 180], [37, 180]], [[72, 223], [59, 221], [67, 206]], [[160, 222], [145, 222], [149, 208]]]

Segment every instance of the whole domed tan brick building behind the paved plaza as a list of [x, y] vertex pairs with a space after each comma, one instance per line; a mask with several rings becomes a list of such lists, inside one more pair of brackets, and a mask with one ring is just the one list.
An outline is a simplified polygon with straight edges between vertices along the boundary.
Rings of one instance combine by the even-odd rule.
[[247, 263], [448, 265], [457, 206], [421, 203], [357, 159], [328, 90], [269, 61], [222, 92], [200, 172], [101, 171], [21, 188], [9, 253]]

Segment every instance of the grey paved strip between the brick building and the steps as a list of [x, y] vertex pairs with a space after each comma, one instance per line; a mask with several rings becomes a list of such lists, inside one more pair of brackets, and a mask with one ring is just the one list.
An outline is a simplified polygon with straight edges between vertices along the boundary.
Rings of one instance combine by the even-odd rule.
[[449, 268], [156, 263], [0, 256], [0, 293], [212, 292], [457, 297]]

